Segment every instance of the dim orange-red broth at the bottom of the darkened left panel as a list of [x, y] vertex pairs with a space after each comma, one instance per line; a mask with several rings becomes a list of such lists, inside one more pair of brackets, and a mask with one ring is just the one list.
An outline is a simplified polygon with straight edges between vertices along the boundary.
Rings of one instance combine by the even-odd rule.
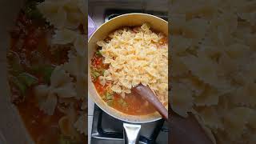
[[38, 109], [37, 101], [32, 91], [26, 97], [24, 102], [16, 106], [34, 142], [38, 142], [40, 139], [40, 144], [46, 142], [58, 143], [58, 120], [62, 118], [63, 114], [57, 109], [54, 115], [44, 114]]

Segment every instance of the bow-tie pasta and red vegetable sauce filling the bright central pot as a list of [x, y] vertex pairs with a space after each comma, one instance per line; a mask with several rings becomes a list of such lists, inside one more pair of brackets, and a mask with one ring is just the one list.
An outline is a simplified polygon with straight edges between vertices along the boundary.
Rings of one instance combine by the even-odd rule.
[[[145, 101], [131, 94], [131, 89], [139, 84], [149, 86], [160, 102], [167, 104], [168, 42], [165, 34], [151, 30], [145, 23], [114, 30], [97, 45], [90, 74], [107, 104], [126, 114], [150, 114], [154, 111], [152, 107], [148, 108]], [[133, 98], [139, 102], [136, 110], [130, 110], [134, 107], [130, 102]]]

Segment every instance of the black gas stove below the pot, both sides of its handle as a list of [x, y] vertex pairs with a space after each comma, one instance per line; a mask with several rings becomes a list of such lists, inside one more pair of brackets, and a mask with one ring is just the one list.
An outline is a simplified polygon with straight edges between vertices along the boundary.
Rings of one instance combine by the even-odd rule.
[[[94, 106], [91, 144], [123, 144], [123, 122]], [[142, 124], [139, 144], [166, 144], [168, 126], [164, 120]]]

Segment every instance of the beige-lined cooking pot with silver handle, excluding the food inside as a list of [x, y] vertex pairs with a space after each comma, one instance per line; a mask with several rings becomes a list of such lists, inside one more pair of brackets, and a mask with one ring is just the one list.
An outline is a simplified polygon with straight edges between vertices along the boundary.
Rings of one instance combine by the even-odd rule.
[[[123, 14], [110, 21], [104, 23], [102, 26], [98, 27], [98, 30], [92, 34], [88, 42], [88, 62], [93, 58], [94, 52], [97, 50], [97, 44], [99, 40], [103, 40], [108, 34], [114, 30], [118, 30], [124, 26], [142, 26], [143, 23], [149, 23], [153, 30], [162, 32], [168, 35], [168, 22], [162, 18], [158, 18], [150, 14]], [[114, 118], [122, 120], [124, 122], [124, 135], [125, 143], [136, 143], [138, 142], [138, 134], [141, 129], [142, 123], [154, 122], [161, 119], [161, 115], [158, 112], [154, 114], [147, 115], [129, 115], [124, 114], [114, 108], [108, 106], [106, 102], [102, 100], [97, 90], [94, 87], [94, 83], [91, 81], [90, 77], [90, 64], [88, 64], [89, 76], [88, 76], [88, 90], [89, 96], [94, 100], [94, 102], [107, 114], [110, 114]]]

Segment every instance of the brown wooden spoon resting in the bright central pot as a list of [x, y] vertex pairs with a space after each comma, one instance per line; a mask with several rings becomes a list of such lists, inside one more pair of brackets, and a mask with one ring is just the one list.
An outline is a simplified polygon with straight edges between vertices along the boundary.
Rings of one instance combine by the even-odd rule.
[[150, 104], [152, 104], [154, 108], [158, 110], [159, 114], [162, 115], [162, 118], [168, 120], [168, 110], [166, 110], [166, 107], [163, 106], [162, 102], [158, 100], [157, 96], [150, 89], [150, 87], [139, 84], [138, 86], [132, 88], [132, 90], [150, 102]]

